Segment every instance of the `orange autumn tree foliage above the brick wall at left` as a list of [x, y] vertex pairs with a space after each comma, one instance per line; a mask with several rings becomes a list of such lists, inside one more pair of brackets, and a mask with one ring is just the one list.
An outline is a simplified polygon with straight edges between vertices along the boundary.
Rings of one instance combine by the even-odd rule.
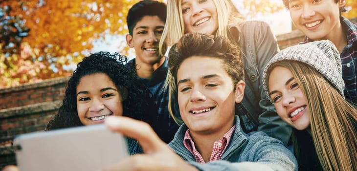
[[12, 43], [15, 51], [5, 52], [8, 43], [0, 42], [0, 87], [70, 75], [66, 65], [81, 61], [94, 40], [127, 32], [126, 12], [135, 2], [2, 0], [0, 8], [7, 11], [1, 20], [16, 18], [30, 31], [20, 44]]

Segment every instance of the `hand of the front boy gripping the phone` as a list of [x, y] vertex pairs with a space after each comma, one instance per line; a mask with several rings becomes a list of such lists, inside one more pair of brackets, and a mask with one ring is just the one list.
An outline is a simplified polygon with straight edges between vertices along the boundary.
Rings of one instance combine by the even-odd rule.
[[144, 154], [129, 156], [104, 171], [198, 171], [170, 150], [149, 124], [121, 116], [109, 117], [105, 124], [112, 131], [136, 139]]

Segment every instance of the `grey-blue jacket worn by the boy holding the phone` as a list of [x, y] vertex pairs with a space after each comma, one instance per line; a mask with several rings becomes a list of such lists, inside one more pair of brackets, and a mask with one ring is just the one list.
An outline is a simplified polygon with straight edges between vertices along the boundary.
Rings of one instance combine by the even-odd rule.
[[222, 160], [205, 164], [196, 162], [195, 157], [183, 145], [188, 129], [182, 124], [169, 146], [183, 160], [200, 171], [297, 171], [294, 155], [281, 141], [267, 136], [264, 132], [245, 134], [240, 126], [239, 117], [235, 117], [236, 128], [223, 153]]

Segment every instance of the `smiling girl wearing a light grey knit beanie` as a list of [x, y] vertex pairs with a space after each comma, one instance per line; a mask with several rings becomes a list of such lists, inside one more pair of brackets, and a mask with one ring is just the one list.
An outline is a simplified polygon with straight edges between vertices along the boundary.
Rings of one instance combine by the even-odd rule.
[[343, 94], [340, 55], [330, 41], [282, 50], [263, 74], [267, 96], [294, 129], [301, 171], [357, 171], [357, 109]]

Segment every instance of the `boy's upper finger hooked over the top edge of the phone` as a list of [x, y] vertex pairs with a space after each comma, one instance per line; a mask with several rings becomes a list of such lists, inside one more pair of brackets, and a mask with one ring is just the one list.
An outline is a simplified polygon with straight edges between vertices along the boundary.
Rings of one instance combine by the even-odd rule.
[[166, 147], [153, 128], [143, 121], [123, 116], [112, 116], [105, 120], [105, 124], [112, 131], [118, 131], [136, 139], [145, 153], [152, 153]]

